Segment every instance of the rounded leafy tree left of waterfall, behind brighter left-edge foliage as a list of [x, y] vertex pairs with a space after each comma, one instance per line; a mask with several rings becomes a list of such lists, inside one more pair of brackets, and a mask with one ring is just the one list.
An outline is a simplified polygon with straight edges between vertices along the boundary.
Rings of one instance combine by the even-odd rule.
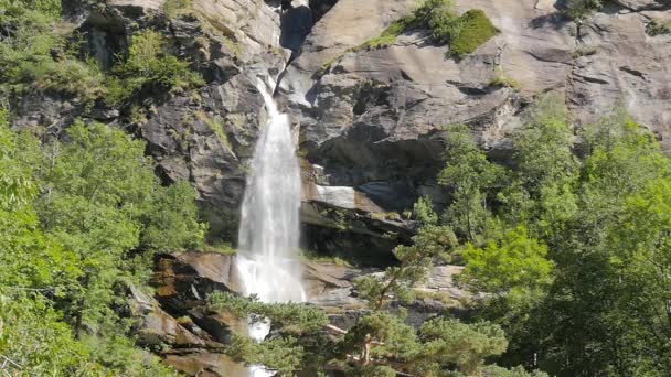
[[151, 255], [138, 256], [138, 247], [181, 250], [202, 241], [203, 229], [193, 190], [161, 187], [143, 142], [97, 123], [75, 123], [67, 136], [47, 157], [39, 208], [45, 230], [76, 254], [84, 272], [62, 303], [81, 336], [115, 326], [119, 284], [141, 283], [138, 273], [150, 266]]

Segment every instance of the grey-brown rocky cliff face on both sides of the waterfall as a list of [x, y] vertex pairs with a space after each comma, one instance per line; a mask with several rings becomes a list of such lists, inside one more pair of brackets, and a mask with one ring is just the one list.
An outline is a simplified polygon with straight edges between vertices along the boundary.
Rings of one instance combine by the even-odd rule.
[[[130, 109], [93, 109], [58, 94], [24, 98], [17, 127], [54, 133], [75, 118], [116, 125], [148, 142], [166, 181], [185, 179], [200, 193], [215, 233], [234, 237], [256, 134], [265, 122], [257, 76], [279, 79], [277, 95], [296, 125], [303, 166], [307, 246], [359, 256], [387, 255], [407, 240], [403, 215], [419, 195], [445, 202], [435, 176], [443, 126], [469, 125], [482, 148], [505, 159], [507, 137], [534, 96], [558, 91], [588, 122], [614, 105], [671, 136], [669, 0], [618, 0], [581, 22], [553, 0], [458, 0], [486, 11], [501, 33], [457, 62], [426, 32], [384, 49], [354, 49], [412, 11], [414, 0], [109, 0], [66, 1], [86, 52], [109, 67], [130, 36], [155, 29], [206, 80], [195, 93], [147, 94]], [[498, 76], [518, 88], [491, 85]], [[391, 238], [388, 235], [393, 235]]]

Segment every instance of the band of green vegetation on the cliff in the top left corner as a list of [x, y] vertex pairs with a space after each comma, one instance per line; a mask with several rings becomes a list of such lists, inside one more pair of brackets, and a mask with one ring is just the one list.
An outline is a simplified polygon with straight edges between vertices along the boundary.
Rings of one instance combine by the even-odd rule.
[[121, 107], [141, 93], [183, 91], [203, 85], [189, 62], [170, 53], [156, 31], [135, 34], [128, 55], [104, 71], [61, 19], [61, 1], [0, 0], [0, 104], [31, 90], [60, 93], [93, 105]]

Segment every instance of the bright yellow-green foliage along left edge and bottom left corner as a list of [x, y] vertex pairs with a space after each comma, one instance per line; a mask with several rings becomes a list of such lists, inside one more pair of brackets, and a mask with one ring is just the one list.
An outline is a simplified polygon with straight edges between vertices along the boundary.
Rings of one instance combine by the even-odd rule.
[[[76, 340], [71, 323], [54, 308], [54, 302], [68, 303], [79, 295], [95, 298], [98, 304], [107, 304], [108, 293], [104, 287], [85, 283], [85, 278], [90, 273], [89, 266], [108, 266], [104, 265], [106, 260], [93, 261], [90, 256], [87, 256], [89, 265], [82, 263], [82, 256], [76, 249], [64, 246], [61, 235], [43, 230], [35, 202], [39, 201], [43, 183], [36, 177], [45, 161], [38, 141], [28, 133], [9, 130], [4, 112], [0, 111], [2, 363], [9, 365], [12, 375], [18, 373], [26, 376], [173, 375], [156, 357], [149, 357], [136, 348], [123, 333], [108, 332], [105, 338], [79, 334], [79, 340]], [[83, 186], [81, 182], [71, 183]], [[76, 209], [70, 208], [71, 212]], [[98, 272], [102, 276], [108, 273], [103, 270]], [[102, 280], [95, 278], [98, 282]], [[96, 298], [96, 293], [102, 293], [102, 298]], [[93, 304], [89, 306], [93, 308]], [[73, 313], [75, 308], [63, 309], [66, 313]], [[109, 308], [95, 310], [116, 317]], [[92, 315], [92, 312], [84, 315]]]

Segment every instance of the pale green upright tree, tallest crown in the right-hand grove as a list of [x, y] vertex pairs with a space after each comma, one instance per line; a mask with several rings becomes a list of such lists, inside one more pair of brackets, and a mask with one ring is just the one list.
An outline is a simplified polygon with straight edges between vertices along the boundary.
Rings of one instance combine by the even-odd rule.
[[523, 119], [513, 137], [513, 180], [498, 194], [505, 204], [501, 215], [507, 223], [524, 224], [532, 234], [552, 241], [553, 237], [561, 237], [578, 209], [575, 138], [568, 110], [554, 94], [541, 97]]

